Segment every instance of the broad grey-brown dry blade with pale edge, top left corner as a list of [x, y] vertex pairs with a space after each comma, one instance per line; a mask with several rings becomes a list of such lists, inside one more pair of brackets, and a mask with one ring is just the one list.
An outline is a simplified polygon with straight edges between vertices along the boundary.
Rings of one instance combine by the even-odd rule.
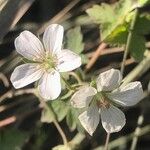
[[0, 40], [11, 30], [29, 9], [34, 0], [8, 1], [0, 13]]

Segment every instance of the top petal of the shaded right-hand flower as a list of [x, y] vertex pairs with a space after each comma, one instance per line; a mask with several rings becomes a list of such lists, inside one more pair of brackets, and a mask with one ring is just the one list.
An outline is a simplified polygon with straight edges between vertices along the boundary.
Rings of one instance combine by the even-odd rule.
[[122, 75], [117, 69], [110, 69], [99, 75], [97, 78], [98, 91], [112, 91], [120, 85]]

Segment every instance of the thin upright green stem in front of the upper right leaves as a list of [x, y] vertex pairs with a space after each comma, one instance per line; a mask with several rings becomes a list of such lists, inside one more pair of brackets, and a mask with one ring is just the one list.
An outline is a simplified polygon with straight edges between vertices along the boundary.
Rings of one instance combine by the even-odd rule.
[[137, 20], [138, 14], [139, 14], [139, 10], [138, 10], [138, 8], [136, 8], [133, 20], [131, 22], [130, 31], [129, 31], [128, 38], [127, 38], [127, 44], [126, 44], [124, 55], [123, 55], [123, 61], [122, 61], [122, 65], [121, 65], [121, 73], [122, 73], [122, 75], [124, 73], [125, 61], [127, 59], [127, 55], [129, 53], [129, 50], [130, 50], [131, 41], [132, 41], [133, 32], [134, 32], [133, 30], [134, 30], [134, 27], [135, 27], [135, 24], [136, 24], [136, 20]]

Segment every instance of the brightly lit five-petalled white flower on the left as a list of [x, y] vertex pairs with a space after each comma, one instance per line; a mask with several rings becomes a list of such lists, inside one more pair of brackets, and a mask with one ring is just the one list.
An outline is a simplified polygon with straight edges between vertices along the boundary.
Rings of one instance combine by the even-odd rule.
[[44, 32], [43, 45], [29, 31], [23, 31], [15, 39], [17, 52], [31, 61], [13, 71], [10, 80], [16, 89], [39, 80], [38, 89], [43, 98], [53, 100], [59, 96], [59, 72], [72, 71], [81, 65], [77, 54], [61, 49], [63, 33], [61, 25], [52, 24]]

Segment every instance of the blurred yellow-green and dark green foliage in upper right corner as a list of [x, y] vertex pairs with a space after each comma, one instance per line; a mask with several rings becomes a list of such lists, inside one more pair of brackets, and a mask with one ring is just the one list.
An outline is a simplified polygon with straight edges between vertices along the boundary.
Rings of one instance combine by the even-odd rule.
[[[141, 61], [146, 50], [145, 35], [150, 33], [150, 14], [140, 13], [133, 31], [130, 30], [130, 25], [135, 9], [142, 6], [139, 1], [120, 0], [113, 5], [105, 3], [94, 5], [86, 12], [95, 23], [100, 24], [100, 37], [106, 43], [125, 45], [129, 32], [133, 32], [130, 54], [135, 60]], [[137, 40], [138, 43], [135, 44]]]

